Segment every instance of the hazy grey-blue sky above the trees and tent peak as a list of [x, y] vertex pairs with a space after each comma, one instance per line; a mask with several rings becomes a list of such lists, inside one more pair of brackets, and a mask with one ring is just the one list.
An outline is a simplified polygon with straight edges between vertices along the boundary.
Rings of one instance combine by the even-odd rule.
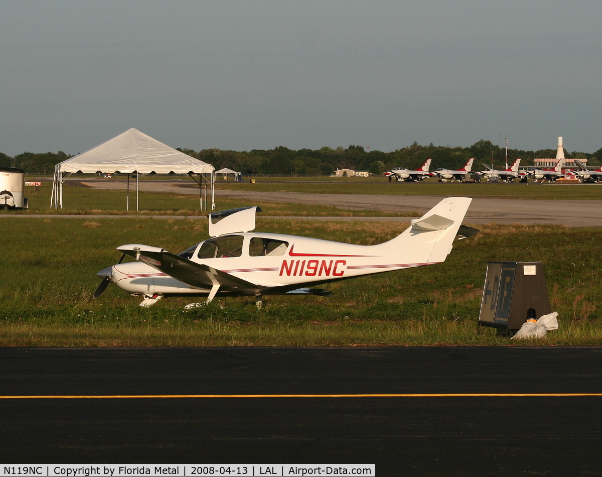
[[602, 148], [600, 0], [0, 2], [0, 152]]

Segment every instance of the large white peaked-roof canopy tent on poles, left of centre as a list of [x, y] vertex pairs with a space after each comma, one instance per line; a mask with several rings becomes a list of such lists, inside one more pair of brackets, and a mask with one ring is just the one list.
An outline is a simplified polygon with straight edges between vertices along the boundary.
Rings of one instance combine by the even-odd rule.
[[[136, 195], [138, 196], [138, 173], [188, 174], [199, 184], [201, 194], [203, 179], [205, 182], [205, 209], [207, 209], [207, 185], [211, 195], [211, 208], [215, 208], [213, 191], [213, 170], [211, 164], [190, 157], [184, 152], [147, 136], [138, 129], [128, 129], [125, 133], [113, 137], [98, 146], [73, 156], [57, 164], [54, 169], [51, 207], [63, 207], [63, 174], [69, 172], [114, 173], [128, 175], [128, 208], [129, 208], [129, 174], [136, 172]], [[193, 174], [199, 175], [197, 181]], [[202, 198], [201, 198], [202, 208]]]

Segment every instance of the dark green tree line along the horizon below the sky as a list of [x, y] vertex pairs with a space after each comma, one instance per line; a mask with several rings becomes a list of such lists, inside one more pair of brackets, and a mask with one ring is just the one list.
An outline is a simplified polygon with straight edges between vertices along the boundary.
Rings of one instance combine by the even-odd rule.
[[[464, 166], [469, 158], [474, 157], [473, 169], [480, 169], [480, 164], [493, 164], [495, 169], [503, 168], [506, 163], [506, 149], [479, 140], [467, 148], [452, 146], [422, 146], [414, 142], [407, 148], [392, 152], [366, 151], [363, 146], [350, 145], [348, 148], [324, 147], [321, 149], [288, 149], [278, 146], [274, 149], [253, 149], [252, 151], [228, 151], [222, 149], [181, 149], [178, 151], [212, 164], [216, 170], [228, 167], [242, 172], [243, 175], [296, 175], [317, 176], [330, 175], [337, 169], [368, 170], [380, 175], [393, 167], [416, 169], [428, 158], [432, 158], [432, 168], [445, 167], [458, 169]], [[0, 167], [20, 167], [30, 174], [52, 173], [55, 164], [69, 157], [63, 151], [22, 154], [10, 157], [0, 152]], [[539, 151], [522, 151], [508, 149], [508, 163], [522, 158], [521, 166], [532, 166], [535, 158], [555, 158], [556, 149], [540, 149]], [[602, 163], [602, 148], [590, 154], [587, 152], [565, 151], [566, 158], [586, 158], [588, 165], [597, 166]]]

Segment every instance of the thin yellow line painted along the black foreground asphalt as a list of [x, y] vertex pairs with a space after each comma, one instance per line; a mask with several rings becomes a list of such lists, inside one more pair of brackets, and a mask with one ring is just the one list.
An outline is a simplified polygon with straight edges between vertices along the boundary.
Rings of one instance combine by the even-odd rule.
[[0, 399], [216, 399], [216, 398], [570, 398], [602, 393], [459, 393], [459, 394], [69, 394], [0, 396]]

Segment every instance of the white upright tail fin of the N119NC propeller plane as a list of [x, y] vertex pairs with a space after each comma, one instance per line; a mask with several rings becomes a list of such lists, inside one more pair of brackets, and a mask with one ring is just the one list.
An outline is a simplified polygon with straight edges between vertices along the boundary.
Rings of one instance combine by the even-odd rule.
[[468, 197], [443, 199], [420, 219], [412, 220], [412, 225], [402, 234], [374, 245], [374, 250], [391, 255], [393, 260], [403, 257], [406, 264], [414, 266], [445, 261], [472, 200]]

